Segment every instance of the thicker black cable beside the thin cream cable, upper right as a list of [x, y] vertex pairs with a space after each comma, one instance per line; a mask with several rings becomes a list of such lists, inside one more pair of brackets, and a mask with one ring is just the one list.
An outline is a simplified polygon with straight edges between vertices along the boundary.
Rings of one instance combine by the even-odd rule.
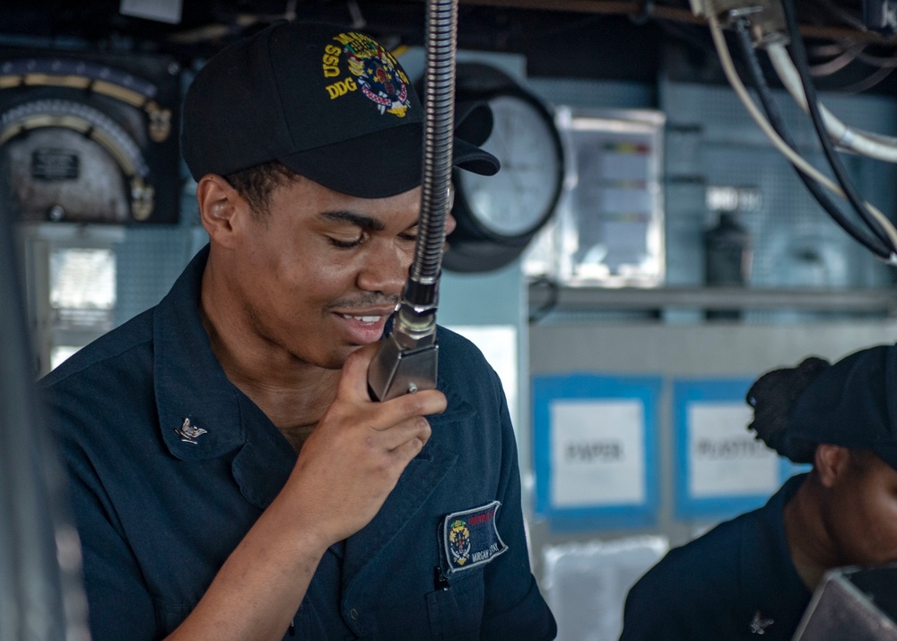
[[[766, 77], [763, 75], [760, 60], [757, 59], [757, 52], [753, 48], [753, 42], [751, 41], [751, 36], [745, 25], [745, 20], [737, 20], [735, 27], [738, 48], [741, 51], [742, 58], [745, 60], [748, 74], [751, 77], [751, 82], [757, 92], [757, 96], [760, 98], [760, 104], [763, 111], [766, 112], [766, 118], [770, 121], [770, 125], [775, 129], [776, 133], [779, 134], [779, 137], [785, 141], [785, 144], [797, 151], [797, 145], [795, 145], [794, 139], [790, 136], [788, 129], [785, 127], [785, 120], [782, 118], [779, 106], [772, 97], [770, 87], [766, 83]], [[820, 206], [832, 216], [832, 219], [835, 223], [840, 225], [841, 229], [849, 233], [854, 240], [866, 247], [867, 250], [872, 251], [879, 258], [887, 259], [890, 257], [891, 252], [886, 246], [883, 246], [876, 238], [868, 238], [862, 229], [859, 229], [855, 224], [851, 223], [847, 216], [841, 213], [838, 206], [832, 201], [832, 198], [829, 198], [829, 195], [825, 192], [822, 185], [807, 176], [796, 164], [792, 163], [792, 166], [795, 171], [797, 171], [797, 176], [800, 180], [803, 180], [806, 189], [808, 189], [813, 195], [813, 198], [816, 199], [816, 202], [818, 202]]]

